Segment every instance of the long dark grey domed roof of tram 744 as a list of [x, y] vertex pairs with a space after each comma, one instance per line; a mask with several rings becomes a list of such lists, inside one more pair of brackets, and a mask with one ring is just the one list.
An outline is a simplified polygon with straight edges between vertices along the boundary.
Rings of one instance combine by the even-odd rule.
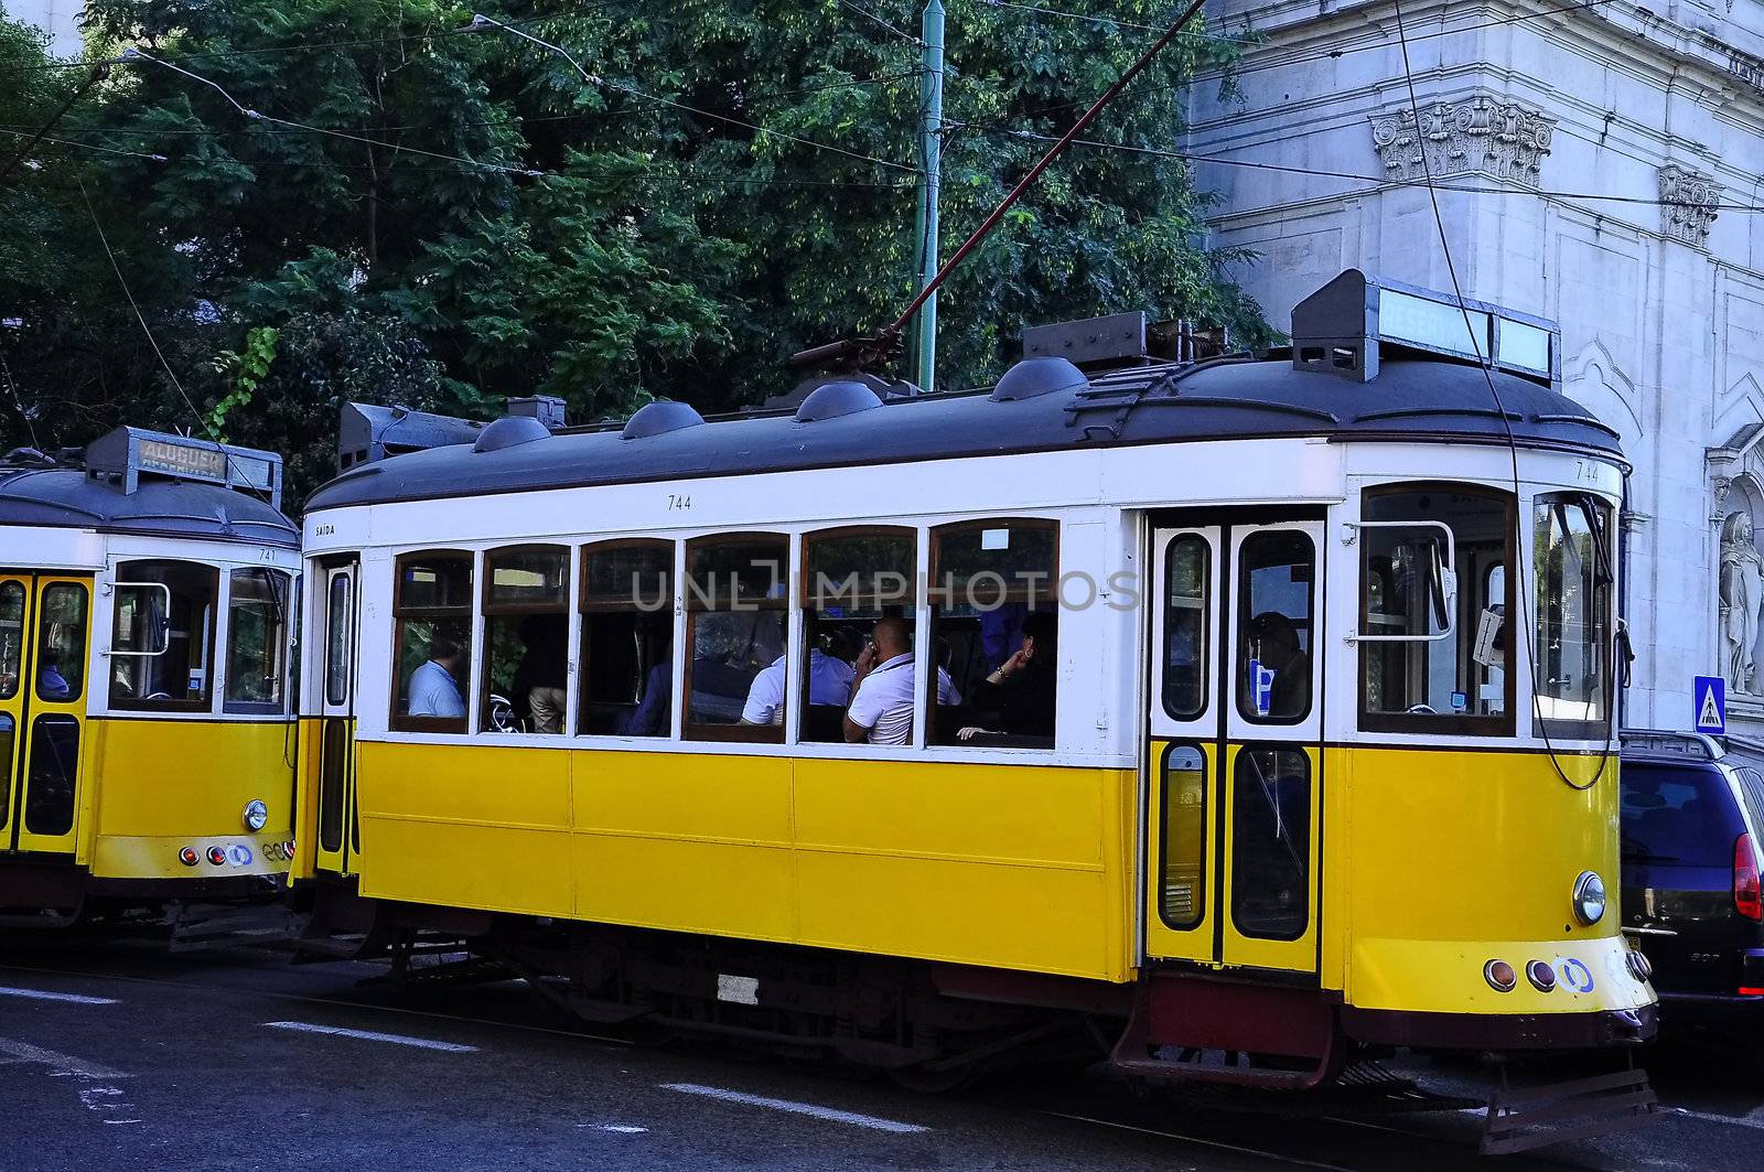
[[[811, 411], [746, 415], [672, 429], [517, 431], [496, 441], [497, 420], [476, 445], [411, 452], [353, 468], [318, 489], [307, 508], [688, 480], [769, 471], [898, 464], [956, 457], [1060, 452], [1148, 443], [1323, 436], [1415, 443], [1505, 443], [1489, 394], [1499, 392], [1512, 436], [1524, 447], [1573, 448], [1621, 459], [1616, 432], [1586, 408], [1535, 381], [1471, 364], [1387, 355], [1371, 381], [1300, 371], [1289, 360], [1226, 358], [1152, 364], [1090, 376], [1060, 358], [1073, 379], [1004, 399], [931, 394], [847, 402]], [[1023, 365], [1028, 365], [1025, 362]], [[1043, 379], [1046, 381], [1046, 379]], [[870, 394], [870, 392], [864, 392]], [[806, 418], [804, 418], [806, 417]]]

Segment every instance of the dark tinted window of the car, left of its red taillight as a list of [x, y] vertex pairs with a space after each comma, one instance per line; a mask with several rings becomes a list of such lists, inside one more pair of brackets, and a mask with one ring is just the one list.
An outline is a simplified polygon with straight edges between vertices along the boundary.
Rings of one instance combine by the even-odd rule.
[[1641, 863], [1732, 867], [1736, 817], [1715, 770], [1623, 766], [1623, 856]]

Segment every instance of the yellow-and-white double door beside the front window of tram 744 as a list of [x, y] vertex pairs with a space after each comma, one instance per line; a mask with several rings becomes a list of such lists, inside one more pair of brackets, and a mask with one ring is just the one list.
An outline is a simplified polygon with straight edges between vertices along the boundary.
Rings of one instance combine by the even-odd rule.
[[1318, 969], [1318, 521], [1154, 531], [1147, 955]]

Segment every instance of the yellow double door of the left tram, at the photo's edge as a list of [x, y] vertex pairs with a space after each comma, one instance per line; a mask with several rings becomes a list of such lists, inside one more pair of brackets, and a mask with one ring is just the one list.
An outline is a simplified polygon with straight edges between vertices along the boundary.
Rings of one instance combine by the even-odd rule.
[[0, 574], [0, 851], [74, 854], [92, 579]]

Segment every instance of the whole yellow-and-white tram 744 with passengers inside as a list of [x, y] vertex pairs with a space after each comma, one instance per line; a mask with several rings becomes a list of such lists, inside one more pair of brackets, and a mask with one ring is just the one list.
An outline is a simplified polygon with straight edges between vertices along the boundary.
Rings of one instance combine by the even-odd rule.
[[1348, 272], [1288, 358], [1145, 337], [351, 468], [305, 515], [296, 877], [591, 1018], [908, 1080], [1060, 1015], [1265, 1087], [1649, 1038], [1625, 466], [1554, 327]]

